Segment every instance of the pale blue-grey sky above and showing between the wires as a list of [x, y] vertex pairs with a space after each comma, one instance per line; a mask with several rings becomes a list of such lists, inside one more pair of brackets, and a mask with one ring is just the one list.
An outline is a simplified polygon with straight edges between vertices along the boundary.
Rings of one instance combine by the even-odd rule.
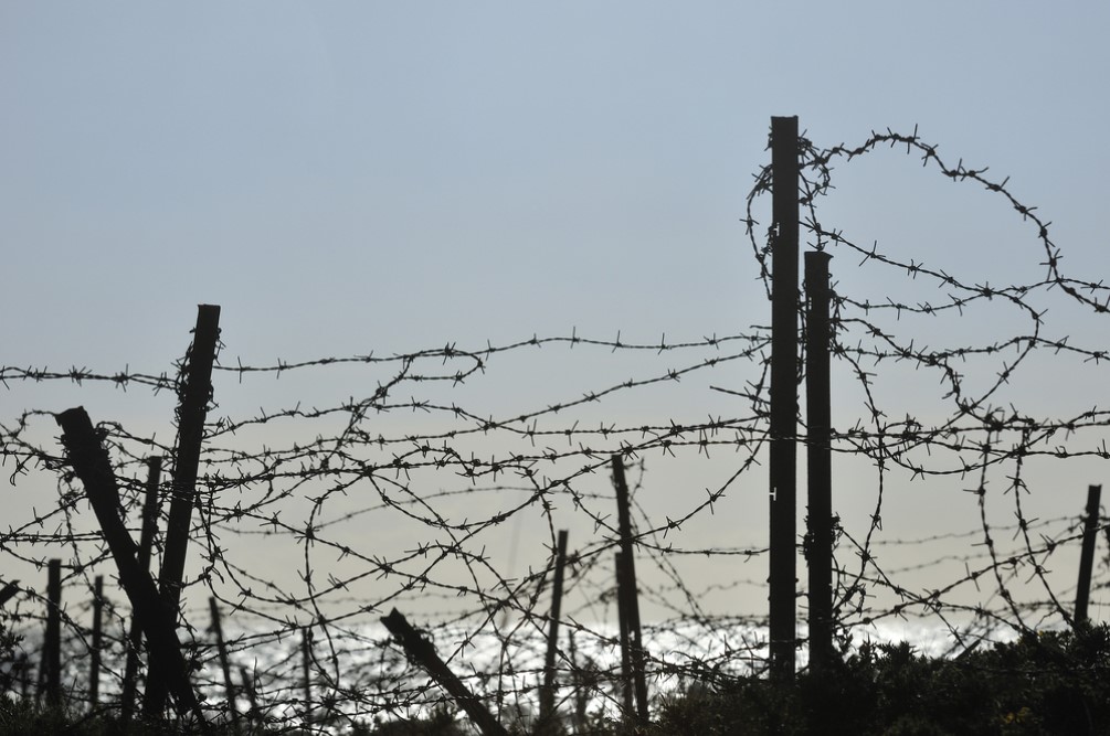
[[[648, 345], [750, 333], [769, 323], [769, 304], [745, 207], [769, 161], [773, 115], [798, 115], [818, 147], [916, 126], [948, 163], [1009, 177], [1015, 196], [1052, 223], [1062, 270], [1098, 282], [1110, 273], [1108, 30], [1110, 7], [1094, 2], [3, 2], [0, 364], [168, 371], [199, 304], [222, 307], [223, 365], [482, 348], [572, 330]], [[1036, 233], [1005, 202], [915, 156], [894, 150], [839, 163], [834, 183], [823, 224], [860, 244], [966, 283], [1042, 274]], [[760, 206], [769, 218], [769, 203]], [[917, 288], [857, 267], [849, 253], [834, 252], [833, 269], [844, 290], [879, 300]], [[1104, 320], [1071, 308], [1052, 306], [1061, 320], [1052, 334], [1104, 345]], [[1012, 311], [986, 310], [941, 337], [1026, 328]], [[511, 354], [464, 396], [514, 416], [629, 371], [655, 375], [669, 358], [544, 350]], [[928, 413], [935, 386], [891, 375], [877, 390]], [[744, 376], [718, 370], [582, 419], [731, 415], [709, 384], [739, 390]], [[1107, 385], [1104, 370], [1081, 360], [1037, 364], [1027, 376], [1023, 392], [1013, 390], [1040, 416], [1082, 411]], [[216, 413], [231, 417], [292, 406], [302, 393], [334, 406], [367, 391], [342, 371], [221, 380]], [[845, 425], [858, 398], [837, 397]], [[172, 438], [164, 393], [57, 382], [0, 392], [6, 422], [26, 408], [75, 403], [94, 421]], [[416, 420], [397, 421], [385, 431], [403, 435]], [[275, 433], [260, 441], [289, 441], [265, 431]], [[689, 482], [726, 483], [736, 467], [717, 460]], [[1106, 468], [1077, 468], [1045, 470], [1054, 479], [1046, 483], [1067, 489], [1030, 503], [1078, 515]], [[685, 472], [649, 459], [645, 502], [653, 482], [680, 484]], [[735, 500], [731, 520], [699, 515], [698, 535], [760, 546], [766, 490], [763, 471], [753, 472], [744, 492], [756, 500]], [[866, 477], [855, 472], [846, 466], [842, 485]], [[852, 513], [874, 502], [870, 489], [856, 500], [851, 488], [839, 491]], [[41, 499], [27, 483], [7, 492], [17, 517]], [[908, 495], [890, 510], [891, 533], [928, 536], [945, 520], [976, 528], [973, 504], [953, 514], [938, 498]], [[652, 518], [665, 517], [669, 507], [656, 503]], [[573, 513], [563, 521], [591, 533]], [[544, 534], [532, 519], [486, 541], [505, 559], [522, 556], [501, 563], [519, 575], [543, 555], [525, 560], [517, 548]], [[14, 574], [11, 560], [0, 572], [8, 564]], [[686, 574], [697, 586], [717, 573], [694, 565]], [[718, 611], [758, 613], [757, 587], [709, 597]]]

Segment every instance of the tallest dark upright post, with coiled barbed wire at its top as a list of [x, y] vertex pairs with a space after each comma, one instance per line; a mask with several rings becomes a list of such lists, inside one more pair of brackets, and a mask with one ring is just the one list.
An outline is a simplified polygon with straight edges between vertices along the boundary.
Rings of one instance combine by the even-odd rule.
[[794, 677], [797, 643], [798, 119], [771, 117], [770, 665]]

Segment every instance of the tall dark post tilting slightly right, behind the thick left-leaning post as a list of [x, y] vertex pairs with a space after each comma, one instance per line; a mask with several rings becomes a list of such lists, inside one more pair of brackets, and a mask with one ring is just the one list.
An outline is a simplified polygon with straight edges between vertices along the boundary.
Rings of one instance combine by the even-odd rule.
[[[185, 573], [185, 551], [192, 525], [193, 503], [196, 495], [196, 473], [204, 438], [204, 419], [212, 398], [212, 364], [220, 341], [220, 307], [202, 304], [196, 308], [196, 327], [193, 343], [185, 356], [178, 406], [178, 446], [173, 456], [173, 491], [170, 518], [165, 525], [165, 551], [158, 580], [159, 594], [168, 611], [171, 625], [178, 626], [181, 605], [181, 586]], [[153, 715], [165, 705], [164, 678], [158, 657], [151, 657], [143, 711]]]

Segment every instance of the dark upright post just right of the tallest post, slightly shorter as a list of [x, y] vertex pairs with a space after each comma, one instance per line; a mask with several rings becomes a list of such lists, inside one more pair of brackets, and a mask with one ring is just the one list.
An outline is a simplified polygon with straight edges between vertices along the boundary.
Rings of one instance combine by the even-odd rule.
[[827, 668], [833, 656], [833, 467], [829, 389], [829, 259], [806, 253], [806, 426], [809, 513], [809, 665]]

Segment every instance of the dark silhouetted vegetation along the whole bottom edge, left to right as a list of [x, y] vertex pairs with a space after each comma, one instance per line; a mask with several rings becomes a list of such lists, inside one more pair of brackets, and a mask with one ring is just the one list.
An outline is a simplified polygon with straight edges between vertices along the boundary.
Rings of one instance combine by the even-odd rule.
[[[907, 644], [864, 643], [829, 672], [798, 674], [790, 685], [764, 677], [709, 686], [690, 682], [660, 696], [646, 727], [591, 718], [596, 736], [940, 736], [965, 734], [1110, 736], [1110, 627], [1028, 633], [1009, 644], [975, 648], [956, 660], [918, 654]], [[337, 724], [336, 724], [337, 725]], [[507, 724], [532, 734], [527, 719]], [[188, 733], [137, 722], [129, 734]], [[330, 729], [331, 730], [331, 729]], [[109, 713], [67, 712], [0, 699], [0, 735], [121, 733]], [[216, 734], [234, 733], [219, 727]], [[244, 734], [299, 734], [299, 727], [243, 728]], [[462, 736], [475, 733], [446, 707], [414, 720], [374, 719], [335, 728], [351, 736]], [[564, 727], [545, 735], [573, 733]], [[582, 733], [582, 732], [579, 732]]]

